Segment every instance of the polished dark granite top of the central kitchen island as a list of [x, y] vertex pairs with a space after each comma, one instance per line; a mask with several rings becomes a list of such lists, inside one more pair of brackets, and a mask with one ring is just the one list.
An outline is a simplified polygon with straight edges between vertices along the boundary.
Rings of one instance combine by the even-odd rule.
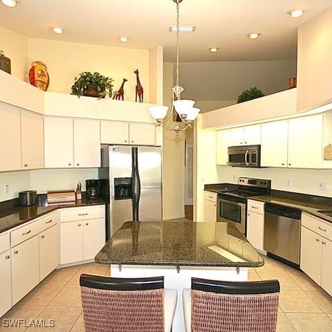
[[95, 257], [99, 264], [259, 267], [264, 259], [231, 223], [127, 221]]

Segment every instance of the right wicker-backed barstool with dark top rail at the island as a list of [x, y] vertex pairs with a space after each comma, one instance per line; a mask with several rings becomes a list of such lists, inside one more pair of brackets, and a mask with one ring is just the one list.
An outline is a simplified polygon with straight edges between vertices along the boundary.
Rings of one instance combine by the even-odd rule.
[[280, 286], [192, 278], [183, 290], [187, 332], [275, 332]]

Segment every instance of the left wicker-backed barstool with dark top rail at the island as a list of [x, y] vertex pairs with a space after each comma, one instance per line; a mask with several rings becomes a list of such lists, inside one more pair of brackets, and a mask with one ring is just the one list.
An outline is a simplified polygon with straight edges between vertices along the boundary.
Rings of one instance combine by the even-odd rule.
[[80, 277], [86, 332], [169, 332], [177, 293], [164, 277]]

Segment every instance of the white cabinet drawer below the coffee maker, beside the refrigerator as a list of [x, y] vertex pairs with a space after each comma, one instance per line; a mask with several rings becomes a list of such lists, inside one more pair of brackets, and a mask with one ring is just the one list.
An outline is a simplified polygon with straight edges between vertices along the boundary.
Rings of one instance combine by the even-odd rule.
[[68, 208], [60, 211], [60, 222], [104, 218], [104, 205], [87, 208]]

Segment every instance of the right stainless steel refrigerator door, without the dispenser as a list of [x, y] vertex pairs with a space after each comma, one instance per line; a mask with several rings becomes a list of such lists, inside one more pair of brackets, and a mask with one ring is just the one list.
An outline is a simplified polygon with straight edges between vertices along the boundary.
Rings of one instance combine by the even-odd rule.
[[138, 147], [138, 173], [140, 176], [140, 221], [163, 220], [161, 187], [161, 148]]

